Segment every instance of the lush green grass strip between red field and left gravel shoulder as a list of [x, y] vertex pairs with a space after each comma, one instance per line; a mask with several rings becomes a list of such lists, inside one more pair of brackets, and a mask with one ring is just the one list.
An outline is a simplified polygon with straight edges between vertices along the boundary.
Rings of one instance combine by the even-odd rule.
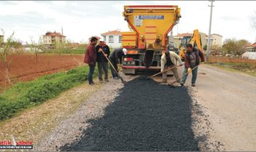
[[[0, 94], [0, 120], [15, 116], [22, 109], [36, 106], [87, 80], [88, 67], [45, 75], [30, 82], [17, 83]], [[97, 75], [94, 72], [94, 77]]]

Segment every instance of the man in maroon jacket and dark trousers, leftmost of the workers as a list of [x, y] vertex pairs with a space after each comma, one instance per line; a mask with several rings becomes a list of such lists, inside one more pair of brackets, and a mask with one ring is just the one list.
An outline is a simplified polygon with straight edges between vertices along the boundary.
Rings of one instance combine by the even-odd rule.
[[89, 65], [89, 72], [88, 72], [88, 83], [89, 85], [94, 85], [94, 81], [92, 79], [92, 76], [94, 75], [94, 69], [96, 66], [96, 43], [98, 41], [98, 38], [91, 37], [90, 38], [90, 44], [86, 48], [86, 54], [84, 56], [84, 62]]

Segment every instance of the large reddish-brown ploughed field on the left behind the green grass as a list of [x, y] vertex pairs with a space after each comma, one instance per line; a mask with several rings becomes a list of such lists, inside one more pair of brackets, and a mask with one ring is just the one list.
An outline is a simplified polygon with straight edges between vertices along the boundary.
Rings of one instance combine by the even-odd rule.
[[[36, 62], [35, 54], [12, 55], [10, 76], [12, 81], [33, 80], [41, 75], [59, 72], [83, 64], [83, 55], [39, 54]], [[0, 62], [0, 87], [5, 84], [5, 69]], [[0, 89], [1, 90], [1, 89]]]

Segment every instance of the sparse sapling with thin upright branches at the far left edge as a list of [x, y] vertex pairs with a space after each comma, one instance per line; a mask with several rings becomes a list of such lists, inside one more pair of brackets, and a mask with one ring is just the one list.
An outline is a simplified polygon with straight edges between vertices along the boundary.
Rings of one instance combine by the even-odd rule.
[[[2, 35], [4, 35], [3, 29], [1, 29], [1, 32], [2, 32]], [[12, 48], [12, 42], [13, 42], [14, 35], [15, 35], [15, 32], [13, 32], [12, 35], [10, 35], [7, 38], [7, 42], [3, 43], [1, 45], [2, 48], [0, 49], [0, 60], [1, 60], [2, 64], [4, 65], [4, 69], [5, 69], [5, 85], [7, 85], [7, 82], [11, 83], [10, 75], [9, 75], [11, 61], [8, 59], [8, 56], [9, 56], [9, 53]]]

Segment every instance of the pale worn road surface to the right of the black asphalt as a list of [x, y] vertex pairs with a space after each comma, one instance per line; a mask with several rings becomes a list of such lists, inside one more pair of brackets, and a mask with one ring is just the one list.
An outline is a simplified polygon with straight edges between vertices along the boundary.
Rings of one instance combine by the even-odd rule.
[[256, 77], [209, 65], [199, 72], [196, 98], [207, 108], [211, 138], [226, 151], [256, 151]]

